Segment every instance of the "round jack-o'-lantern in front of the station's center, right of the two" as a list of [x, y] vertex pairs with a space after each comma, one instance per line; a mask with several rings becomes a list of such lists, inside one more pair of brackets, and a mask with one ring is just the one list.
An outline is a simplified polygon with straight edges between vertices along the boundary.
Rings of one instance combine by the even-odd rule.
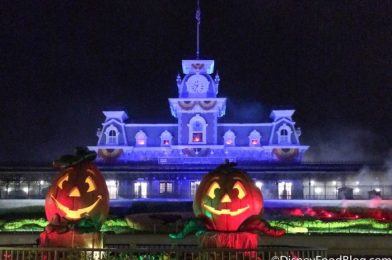
[[260, 215], [262, 208], [261, 191], [235, 168], [229, 172], [217, 168], [204, 176], [193, 202], [195, 215], [209, 218], [218, 231], [236, 231], [247, 218]]

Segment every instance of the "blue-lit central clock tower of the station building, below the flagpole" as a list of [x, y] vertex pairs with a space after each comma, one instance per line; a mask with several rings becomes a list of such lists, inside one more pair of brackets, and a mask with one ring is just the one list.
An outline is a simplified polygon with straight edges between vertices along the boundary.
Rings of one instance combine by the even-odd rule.
[[179, 145], [216, 145], [217, 121], [224, 116], [226, 98], [217, 98], [219, 81], [214, 60], [183, 60], [183, 77], [177, 76], [178, 98], [169, 98], [178, 119]]

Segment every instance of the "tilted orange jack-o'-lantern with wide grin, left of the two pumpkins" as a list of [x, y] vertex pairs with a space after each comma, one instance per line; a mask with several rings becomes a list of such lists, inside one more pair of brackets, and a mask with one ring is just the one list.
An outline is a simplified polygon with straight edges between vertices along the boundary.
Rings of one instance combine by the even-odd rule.
[[82, 162], [60, 172], [45, 201], [46, 217], [55, 214], [77, 221], [83, 217], [102, 223], [109, 212], [105, 179], [90, 162]]

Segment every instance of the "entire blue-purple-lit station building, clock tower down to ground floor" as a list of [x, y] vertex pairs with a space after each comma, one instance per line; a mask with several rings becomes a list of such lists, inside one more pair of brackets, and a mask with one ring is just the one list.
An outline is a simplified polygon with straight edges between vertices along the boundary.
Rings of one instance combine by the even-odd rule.
[[[226, 98], [217, 97], [213, 60], [183, 60], [182, 71], [178, 98], [169, 98], [177, 124], [128, 124], [124, 111], [103, 112], [89, 148], [111, 199], [190, 201], [202, 177], [225, 160], [248, 171], [265, 199], [392, 198], [384, 165], [302, 162], [308, 146], [300, 144], [294, 110], [273, 110], [266, 123], [219, 123]], [[0, 201], [43, 199], [56, 175], [49, 165], [0, 166]]]

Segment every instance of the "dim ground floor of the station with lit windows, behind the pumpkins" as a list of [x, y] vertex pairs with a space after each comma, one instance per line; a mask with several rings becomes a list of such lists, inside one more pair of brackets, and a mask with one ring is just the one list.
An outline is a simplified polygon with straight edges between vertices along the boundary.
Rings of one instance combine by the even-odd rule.
[[[192, 200], [212, 165], [99, 165], [110, 198]], [[391, 179], [383, 165], [350, 163], [239, 165], [262, 189], [265, 199], [392, 199]], [[1, 166], [0, 200], [43, 199], [57, 175], [51, 166]]]

